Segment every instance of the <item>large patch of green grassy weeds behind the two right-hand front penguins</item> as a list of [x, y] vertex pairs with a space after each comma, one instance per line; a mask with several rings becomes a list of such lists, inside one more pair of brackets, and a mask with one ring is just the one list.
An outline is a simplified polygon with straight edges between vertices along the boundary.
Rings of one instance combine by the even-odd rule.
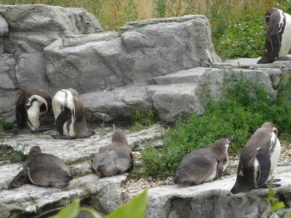
[[[233, 75], [232, 75], [233, 76]], [[229, 154], [239, 154], [246, 141], [264, 122], [278, 127], [279, 139], [291, 138], [291, 77], [284, 77], [274, 100], [262, 85], [253, 83], [241, 73], [231, 79], [218, 101], [208, 96], [203, 116], [193, 114], [186, 121], [178, 119], [166, 131], [160, 150], [147, 146], [142, 151], [143, 169], [148, 176], [172, 176], [182, 158], [191, 151], [212, 146], [220, 138], [235, 135]], [[256, 98], [250, 95], [254, 92]]]

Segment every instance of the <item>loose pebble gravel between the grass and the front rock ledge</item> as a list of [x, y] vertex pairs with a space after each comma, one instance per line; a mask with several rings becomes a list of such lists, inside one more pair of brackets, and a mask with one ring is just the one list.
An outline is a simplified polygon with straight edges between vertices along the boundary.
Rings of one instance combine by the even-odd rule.
[[[135, 160], [141, 160], [141, 153], [140, 152], [133, 152], [133, 156]], [[237, 168], [239, 165], [240, 156], [229, 156], [229, 163], [226, 168], [226, 170], [223, 172], [223, 177], [221, 180], [225, 179], [226, 176], [237, 173]], [[278, 161], [277, 166], [287, 166], [291, 165], [291, 144], [284, 144], [284, 142], [281, 141], [281, 155]], [[135, 193], [143, 188], [153, 188], [158, 186], [166, 186], [170, 185], [173, 186], [173, 176], [167, 177], [165, 180], [160, 180], [159, 178], [152, 178], [152, 177], [142, 177], [140, 179], [138, 178], [132, 178], [128, 177], [123, 189], [122, 193]]]

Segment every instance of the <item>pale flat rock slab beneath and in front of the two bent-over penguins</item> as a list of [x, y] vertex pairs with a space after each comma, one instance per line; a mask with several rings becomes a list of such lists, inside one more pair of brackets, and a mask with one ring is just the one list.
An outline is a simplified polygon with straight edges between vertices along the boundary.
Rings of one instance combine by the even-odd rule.
[[[123, 129], [127, 135], [129, 146], [135, 149], [141, 146], [141, 143], [148, 140], [160, 139], [162, 135], [162, 126], [154, 125], [149, 129], [129, 132]], [[96, 134], [90, 138], [76, 140], [54, 140], [50, 134], [56, 134], [53, 131], [47, 131], [39, 134], [21, 134], [14, 136], [7, 135], [7, 144], [21, 149], [21, 144], [27, 144], [25, 152], [28, 152], [33, 146], [40, 146], [43, 153], [52, 154], [60, 157], [65, 164], [69, 166], [74, 175], [86, 175], [91, 171], [89, 164], [90, 158], [102, 147], [111, 142], [113, 128], [97, 128]], [[18, 144], [18, 145], [17, 145]], [[10, 181], [21, 170], [20, 164], [9, 164], [0, 166], [0, 188], [7, 188]]]

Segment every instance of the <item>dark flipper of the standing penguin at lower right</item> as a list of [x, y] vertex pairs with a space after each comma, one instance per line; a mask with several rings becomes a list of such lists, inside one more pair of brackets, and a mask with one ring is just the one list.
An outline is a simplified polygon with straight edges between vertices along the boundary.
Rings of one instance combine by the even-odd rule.
[[266, 183], [270, 175], [271, 159], [269, 156], [269, 146], [259, 148], [256, 153], [256, 159], [259, 161], [259, 179], [257, 185], [261, 186]]

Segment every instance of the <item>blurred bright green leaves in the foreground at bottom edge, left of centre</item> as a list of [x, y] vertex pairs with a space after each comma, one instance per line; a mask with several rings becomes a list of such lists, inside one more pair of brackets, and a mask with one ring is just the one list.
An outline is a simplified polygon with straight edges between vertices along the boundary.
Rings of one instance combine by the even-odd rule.
[[[105, 216], [104, 218], [144, 218], [147, 201], [147, 190], [145, 189], [141, 194], [134, 197], [129, 202], [119, 206], [112, 214]], [[69, 206], [63, 208], [57, 215], [50, 218], [76, 218], [79, 211], [85, 210], [91, 213], [94, 218], [100, 218], [100, 216], [88, 208], [80, 207], [80, 202], [75, 201]]]

